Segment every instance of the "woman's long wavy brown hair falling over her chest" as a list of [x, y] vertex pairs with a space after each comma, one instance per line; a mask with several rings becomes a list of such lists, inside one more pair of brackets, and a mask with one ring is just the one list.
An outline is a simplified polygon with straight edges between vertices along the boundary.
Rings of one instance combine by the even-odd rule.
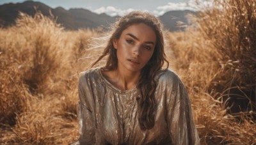
[[132, 11], [131, 13], [120, 17], [113, 25], [111, 31], [109, 31], [108, 43], [104, 47], [102, 55], [99, 59], [93, 62], [92, 66], [97, 64], [103, 57], [108, 55], [106, 66], [104, 69], [115, 70], [118, 67], [118, 59], [116, 57], [116, 49], [113, 46], [113, 40], [119, 39], [122, 32], [127, 27], [133, 24], [146, 24], [151, 27], [156, 33], [156, 46], [151, 59], [148, 61], [145, 67], [141, 69], [139, 82], [137, 85], [140, 90], [141, 97], [138, 97], [138, 113], [139, 122], [142, 130], [147, 130], [154, 127], [155, 114], [156, 114], [156, 99], [154, 94], [156, 92], [156, 74], [166, 62], [169, 66], [169, 62], [166, 59], [164, 53], [164, 36], [163, 36], [163, 25], [154, 15], [142, 11]]

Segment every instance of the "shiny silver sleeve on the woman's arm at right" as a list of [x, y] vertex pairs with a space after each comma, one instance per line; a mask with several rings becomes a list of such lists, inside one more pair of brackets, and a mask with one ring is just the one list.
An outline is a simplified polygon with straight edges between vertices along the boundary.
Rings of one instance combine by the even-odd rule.
[[167, 120], [172, 144], [200, 144], [188, 92], [178, 76], [168, 94]]

